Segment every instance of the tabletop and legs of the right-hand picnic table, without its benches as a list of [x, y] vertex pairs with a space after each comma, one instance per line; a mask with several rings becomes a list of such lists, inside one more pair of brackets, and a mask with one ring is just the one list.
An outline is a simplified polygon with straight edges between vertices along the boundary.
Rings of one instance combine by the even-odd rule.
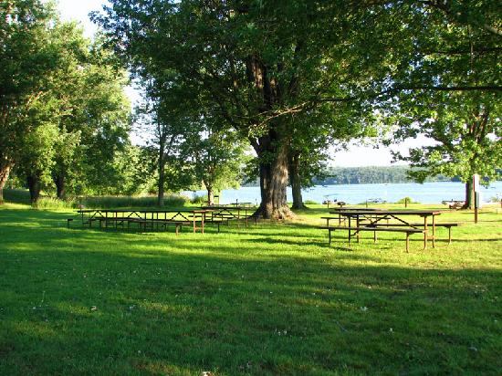
[[[380, 225], [381, 221], [393, 219], [397, 221], [400, 225], [409, 227], [411, 229], [424, 229], [424, 249], [427, 248], [427, 240], [432, 240], [433, 248], [435, 241], [435, 217], [442, 214], [439, 210], [383, 210], [383, 209], [339, 209], [333, 211], [340, 216], [346, 217], [349, 221], [349, 227], [351, 226], [351, 221], [355, 220], [355, 228], [360, 228], [361, 223], [364, 222], [363, 227], [365, 228], [376, 228]], [[424, 225], [416, 225], [409, 221], [410, 217], [420, 216], [424, 219]], [[432, 236], [429, 236], [429, 218], [432, 219]], [[354, 235], [357, 236], [359, 241], [359, 230], [355, 230]]]

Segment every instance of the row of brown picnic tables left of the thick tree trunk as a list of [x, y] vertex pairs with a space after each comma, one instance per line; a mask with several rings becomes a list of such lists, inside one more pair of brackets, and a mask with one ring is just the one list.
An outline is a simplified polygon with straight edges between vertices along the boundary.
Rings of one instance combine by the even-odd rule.
[[[254, 218], [251, 214], [255, 212], [255, 208], [242, 205], [211, 205], [202, 206], [194, 209], [80, 209], [78, 214], [81, 215], [82, 225], [92, 227], [97, 223], [100, 228], [108, 227], [110, 224], [116, 228], [131, 224], [138, 225], [139, 228], [147, 230], [150, 227], [159, 229], [159, 227], [167, 227], [174, 225], [176, 234], [183, 225], [191, 225], [193, 233], [201, 230], [204, 233], [206, 224], [219, 225], [223, 222], [227, 224], [235, 220], [237, 222], [244, 221], [248, 225], [249, 219]], [[255, 221], [257, 218], [254, 218]]]

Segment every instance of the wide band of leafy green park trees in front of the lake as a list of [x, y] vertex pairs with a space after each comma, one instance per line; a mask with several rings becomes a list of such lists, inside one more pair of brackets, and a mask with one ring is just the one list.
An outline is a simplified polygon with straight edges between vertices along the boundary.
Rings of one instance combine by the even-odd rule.
[[286, 187], [302, 207], [333, 146], [423, 135], [434, 146], [394, 158], [419, 182], [458, 177], [469, 203], [473, 175], [502, 165], [496, 3], [110, 0], [89, 40], [51, 3], [3, 1], [0, 202], [21, 183], [32, 202], [147, 191], [162, 205], [201, 184], [211, 201], [246, 176], [259, 214], [287, 218]]

